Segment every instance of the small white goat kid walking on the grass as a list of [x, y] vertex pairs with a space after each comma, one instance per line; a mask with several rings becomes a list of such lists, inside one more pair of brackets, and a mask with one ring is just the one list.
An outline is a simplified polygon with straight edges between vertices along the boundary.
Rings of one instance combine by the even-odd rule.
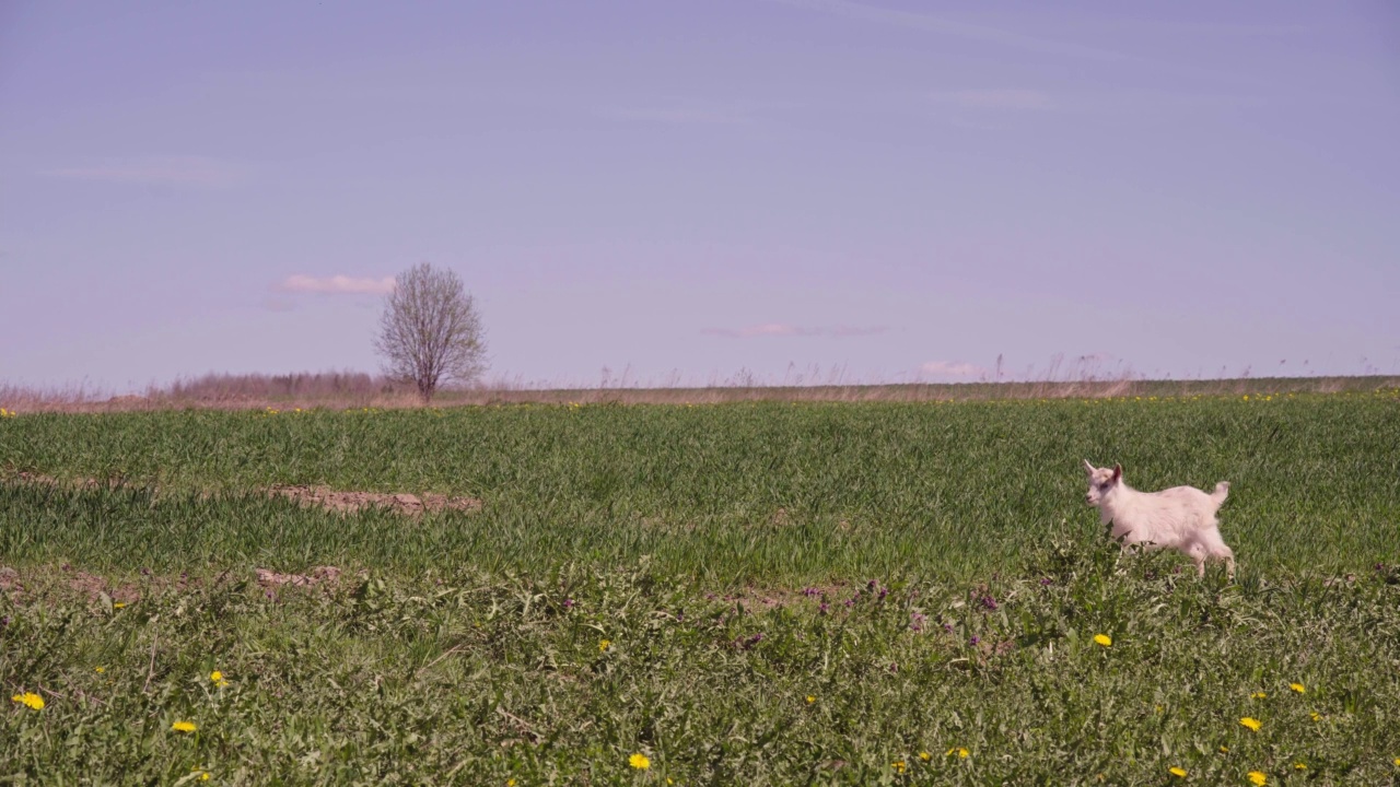
[[1123, 465], [1095, 468], [1088, 459], [1089, 493], [1085, 500], [1099, 508], [1099, 520], [1113, 522], [1112, 538], [1145, 549], [1177, 549], [1196, 562], [1196, 573], [1205, 576], [1205, 560], [1225, 560], [1226, 573], [1235, 577], [1235, 553], [1221, 539], [1215, 513], [1229, 494], [1229, 482], [1215, 485], [1207, 494], [1190, 486], [1162, 492], [1138, 492], [1123, 480]]

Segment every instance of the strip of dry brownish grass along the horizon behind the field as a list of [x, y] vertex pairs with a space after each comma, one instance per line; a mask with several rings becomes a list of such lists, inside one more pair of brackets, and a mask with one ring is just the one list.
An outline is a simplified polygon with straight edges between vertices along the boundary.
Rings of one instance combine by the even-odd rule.
[[[434, 406], [462, 405], [714, 405], [724, 402], [931, 402], [991, 399], [1106, 399], [1119, 396], [1239, 396], [1245, 394], [1341, 394], [1400, 388], [1400, 377], [1264, 377], [1221, 379], [1137, 379], [1131, 377], [1036, 379], [1016, 382], [906, 382], [762, 385], [752, 378], [703, 386], [599, 385], [545, 388], [511, 381], [440, 389]], [[412, 385], [364, 372], [209, 374], [140, 395], [66, 386], [53, 389], [0, 384], [0, 408], [35, 413], [105, 413], [217, 409], [406, 409], [421, 408]]]

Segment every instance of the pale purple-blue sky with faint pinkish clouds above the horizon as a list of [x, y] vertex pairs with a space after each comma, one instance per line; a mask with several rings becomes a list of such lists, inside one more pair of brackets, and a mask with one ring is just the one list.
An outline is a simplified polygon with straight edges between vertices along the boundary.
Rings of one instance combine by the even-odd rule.
[[1386, 1], [10, 1], [0, 381], [1400, 372], [1396, 140]]

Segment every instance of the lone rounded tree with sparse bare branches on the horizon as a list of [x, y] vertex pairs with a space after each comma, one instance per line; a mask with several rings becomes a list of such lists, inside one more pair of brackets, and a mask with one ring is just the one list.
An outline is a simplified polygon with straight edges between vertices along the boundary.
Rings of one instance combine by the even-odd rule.
[[470, 382], [486, 370], [482, 318], [451, 270], [419, 263], [393, 280], [374, 349], [384, 372], [419, 386], [423, 402], [442, 382]]

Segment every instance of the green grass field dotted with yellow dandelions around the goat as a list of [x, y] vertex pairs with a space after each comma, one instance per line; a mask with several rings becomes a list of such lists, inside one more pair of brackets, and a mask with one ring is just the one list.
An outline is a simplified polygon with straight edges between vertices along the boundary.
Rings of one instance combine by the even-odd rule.
[[[1120, 559], [1081, 458], [1231, 480], [1238, 581]], [[1400, 776], [1393, 389], [25, 415], [0, 475], [11, 783]]]

